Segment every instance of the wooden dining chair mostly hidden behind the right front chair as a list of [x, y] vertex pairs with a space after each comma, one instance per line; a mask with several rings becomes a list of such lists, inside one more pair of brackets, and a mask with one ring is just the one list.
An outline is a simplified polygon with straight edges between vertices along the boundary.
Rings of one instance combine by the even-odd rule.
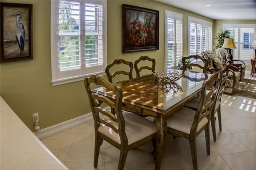
[[[217, 93], [216, 100], [214, 101], [214, 104], [213, 104], [214, 108], [212, 109], [212, 113], [211, 113], [212, 135], [213, 135], [214, 141], [216, 141], [216, 127], [215, 127], [216, 113], [218, 113], [219, 129], [220, 131], [222, 130], [220, 103], [221, 103], [222, 94], [225, 89], [225, 83], [228, 78], [228, 71], [229, 71], [229, 65], [225, 65], [224, 69], [220, 70], [220, 83], [218, 87], [218, 93]], [[192, 99], [192, 101], [189, 101], [188, 103], [186, 103], [184, 106], [190, 109], [196, 110], [199, 103], [200, 103], [200, 98], [197, 97]]]

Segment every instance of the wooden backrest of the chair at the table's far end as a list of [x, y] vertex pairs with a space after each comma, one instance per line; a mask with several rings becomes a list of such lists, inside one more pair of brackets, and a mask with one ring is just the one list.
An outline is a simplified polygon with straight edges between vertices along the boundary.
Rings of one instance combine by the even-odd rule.
[[[201, 61], [204, 62], [204, 65], [200, 65], [198, 63], [187, 64], [185, 62], [185, 60], [187, 60], [187, 59], [200, 59]], [[188, 67], [194, 66], [194, 67], [199, 67], [200, 69], [202, 69], [202, 72], [205, 73], [206, 69], [207, 69], [207, 65], [208, 65], [208, 60], [200, 57], [199, 55], [189, 55], [188, 57], [182, 58], [182, 65], [183, 65], [183, 71], [185, 71], [186, 68], [188, 68]]]

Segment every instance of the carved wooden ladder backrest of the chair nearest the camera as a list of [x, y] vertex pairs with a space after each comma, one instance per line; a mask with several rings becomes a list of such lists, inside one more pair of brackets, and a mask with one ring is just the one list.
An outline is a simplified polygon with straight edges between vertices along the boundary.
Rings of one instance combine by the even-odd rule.
[[[100, 85], [106, 87], [108, 90], [113, 91], [115, 94], [115, 99], [110, 100], [108, 97], [100, 95], [98, 93], [92, 93], [90, 85]], [[100, 126], [107, 126], [112, 128], [114, 132], [119, 134], [121, 144], [128, 144], [126, 132], [125, 132], [125, 122], [122, 114], [122, 98], [123, 93], [122, 89], [118, 86], [115, 86], [112, 83], [109, 83], [104, 77], [92, 75], [89, 78], [84, 79], [84, 86], [86, 92], [89, 97], [90, 107], [92, 109], [92, 115], [94, 119], [94, 128], [95, 133], [98, 133], [98, 128]], [[110, 111], [101, 107], [101, 105], [105, 103], [111, 108], [115, 109], [115, 115]], [[104, 106], [105, 107], [105, 106]], [[109, 119], [114, 121], [114, 123], [110, 121], [106, 121], [106, 117], [102, 117], [102, 115], [107, 116]], [[95, 134], [96, 135], [96, 134]]]

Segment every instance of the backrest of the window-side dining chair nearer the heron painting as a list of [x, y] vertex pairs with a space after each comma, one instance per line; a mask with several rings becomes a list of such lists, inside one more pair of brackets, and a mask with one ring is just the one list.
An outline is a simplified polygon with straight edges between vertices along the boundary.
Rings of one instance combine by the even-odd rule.
[[[120, 71], [114, 71], [112, 74], [110, 73], [110, 68], [113, 67], [114, 65], [119, 65], [119, 64], [124, 64], [124, 65], [128, 65], [128, 71], [123, 71], [123, 70], [120, 70]], [[113, 78], [116, 76], [116, 75], [119, 75], [119, 74], [124, 74], [124, 75], [128, 75], [129, 77], [129, 80], [132, 79], [132, 69], [133, 69], [133, 64], [132, 62], [130, 61], [125, 61], [124, 59], [115, 59], [114, 61], [112, 61], [109, 65], [106, 66], [105, 68], [105, 73], [108, 77], [108, 81], [110, 83], [113, 83]], [[117, 82], [115, 82], [117, 83]]]

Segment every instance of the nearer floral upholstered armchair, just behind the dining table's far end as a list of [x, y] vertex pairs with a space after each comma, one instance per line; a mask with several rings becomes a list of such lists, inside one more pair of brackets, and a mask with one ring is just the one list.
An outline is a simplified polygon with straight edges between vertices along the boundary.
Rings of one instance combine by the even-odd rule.
[[[221, 58], [213, 51], [203, 51], [201, 57], [208, 60], [207, 73], [215, 73], [223, 69]], [[226, 80], [224, 92], [235, 93], [239, 87], [241, 73], [237, 67], [229, 65], [228, 79]]]

